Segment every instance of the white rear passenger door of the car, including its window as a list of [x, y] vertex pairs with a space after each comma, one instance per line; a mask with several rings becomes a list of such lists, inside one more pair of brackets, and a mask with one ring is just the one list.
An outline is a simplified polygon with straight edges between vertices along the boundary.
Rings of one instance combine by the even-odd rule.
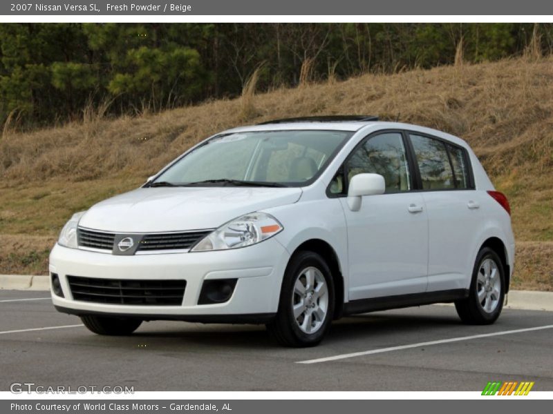
[[428, 291], [467, 288], [482, 211], [465, 148], [409, 133], [429, 218]]

